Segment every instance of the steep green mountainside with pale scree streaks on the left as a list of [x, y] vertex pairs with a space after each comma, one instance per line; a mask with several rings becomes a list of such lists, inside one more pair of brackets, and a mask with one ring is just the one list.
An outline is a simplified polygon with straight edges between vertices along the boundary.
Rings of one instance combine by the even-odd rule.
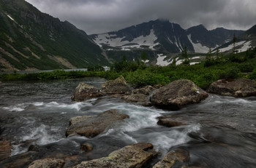
[[0, 70], [108, 65], [102, 49], [71, 23], [23, 0], [0, 0]]

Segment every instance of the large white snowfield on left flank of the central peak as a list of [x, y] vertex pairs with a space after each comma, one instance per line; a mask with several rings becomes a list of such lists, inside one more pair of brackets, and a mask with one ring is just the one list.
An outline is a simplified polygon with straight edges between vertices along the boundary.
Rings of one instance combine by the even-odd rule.
[[109, 33], [99, 34], [94, 42], [102, 47], [102, 44], [107, 44], [110, 47], [121, 47], [122, 50], [129, 50], [132, 48], [141, 48], [141, 46], [148, 46], [149, 49], [154, 50], [154, 47], [159, 45], [159, 43], [154, 43], [157, 40], [157, 36], [154, 34], [154, 30], [151, 29], [148, 36], [139, 36], [132, 41], [127, 41], [126, 37], [117, 37], [116, 35], [110, 35]]

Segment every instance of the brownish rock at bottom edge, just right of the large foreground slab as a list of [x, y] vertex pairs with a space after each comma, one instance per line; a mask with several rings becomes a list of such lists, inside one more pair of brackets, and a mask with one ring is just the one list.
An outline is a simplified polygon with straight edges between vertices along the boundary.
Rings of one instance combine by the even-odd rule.
[[187, 167], [189, 162], [189, 152], [183, 149], [176, 149], [167, 153], [167, 155], [154, 165], [153, 168], [169, 168], [169, 167]]

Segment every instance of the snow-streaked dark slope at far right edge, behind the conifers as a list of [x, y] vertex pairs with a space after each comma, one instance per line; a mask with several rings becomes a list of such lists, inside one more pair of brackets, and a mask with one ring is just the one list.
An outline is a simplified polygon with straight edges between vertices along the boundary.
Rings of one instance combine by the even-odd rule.
[[[256, 47], [256, 25], [249, 28], [247, 31], [236, 35], [236, 51], [244, 52], [251, 47]], [[220, 47], [217, 47], [221, 52], [232, 52], [233, 51], [233, 38]], [[215, 49], [216, 50], [216, 49]]]

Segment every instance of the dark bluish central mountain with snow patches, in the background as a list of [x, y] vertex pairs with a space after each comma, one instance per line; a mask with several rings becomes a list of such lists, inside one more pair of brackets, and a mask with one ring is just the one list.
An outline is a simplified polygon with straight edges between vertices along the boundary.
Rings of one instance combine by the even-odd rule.
[[184, 47], [187, 47], [189, 52], [206, 53], [208, 48], [215, 48], [230, 41], [234, 33], [243, 32], [225, 28], [208, 31], [203, 25], [184, 30], [169, 20], [154, 20], [120, 31], [92, 34], [91, 38], [99, 47], [107, 50], [149, 49], [166, 55], [181, 52]]

